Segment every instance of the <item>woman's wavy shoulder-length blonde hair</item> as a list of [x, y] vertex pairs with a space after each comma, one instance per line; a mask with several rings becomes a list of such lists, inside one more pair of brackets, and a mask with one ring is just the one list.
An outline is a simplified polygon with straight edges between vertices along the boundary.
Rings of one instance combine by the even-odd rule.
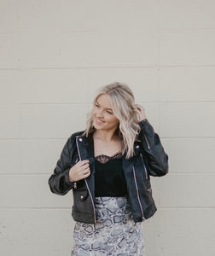
[[[134, 95], [127, 84], [115, 82], [103, 86], [94, 99], [94, 104], [99, 96], [106, 94], [112, 104], [113, 114], [119, 119], [119, 127], [116, 130], [118, 136], [122, 137], [122, 154], [126, 152], [126, 159], [134, 154], [134, 142], [140, 131], [138, 118], [135, 109]], [[86, 130], [84, 134], [88, 137], [89, 133], [95, 131], [93, 126], [92, 111], [88, 114]]]

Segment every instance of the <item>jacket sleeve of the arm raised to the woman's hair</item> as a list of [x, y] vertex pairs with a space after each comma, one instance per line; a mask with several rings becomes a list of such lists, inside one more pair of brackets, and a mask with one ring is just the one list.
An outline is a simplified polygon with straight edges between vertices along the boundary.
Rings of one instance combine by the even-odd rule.
[[148, 172], [152, 176], [164, 176], [168, 172], [168, 155], [160, 143], [160, 137], [154, 132], [154, 128], [143, 119], [139, 123], [141, 127], [140, 139], [146, 160]]

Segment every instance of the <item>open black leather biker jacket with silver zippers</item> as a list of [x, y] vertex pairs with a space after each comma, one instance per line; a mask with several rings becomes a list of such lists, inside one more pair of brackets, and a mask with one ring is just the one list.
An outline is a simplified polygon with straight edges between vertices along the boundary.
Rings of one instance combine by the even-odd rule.
[[[135, 222], [150, 218], [156, 212], [150, 185], [150, 175], [163, 176], [168, 172], [168, 155], [148, 119], [139, 123], [141, 131], [134, 144], [135, 154], [130, 159], [123, 155], [123, 171], [127, 184], [128, 200]], [[69, 181], [69, 169], [78, 160], [90, 160], [90, 176], [77, 183]], [[73, 189], [73, 218], [78, 222], [96, 223], [94, 195], [95, 160], [92, 133], [85, 137], [83, 131], [68, 138], [57, 161], [54, 174], [49, 177], [49, 187], [57, 195]]]

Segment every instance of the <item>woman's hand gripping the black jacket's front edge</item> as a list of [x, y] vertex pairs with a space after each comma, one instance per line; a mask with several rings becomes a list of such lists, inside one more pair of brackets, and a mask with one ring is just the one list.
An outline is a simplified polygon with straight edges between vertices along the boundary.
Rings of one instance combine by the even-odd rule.
[[69, 181], [77, 182], [78, 180], [84, 179], [90, 175], [89, 160], [78, 161], [69, 170]]

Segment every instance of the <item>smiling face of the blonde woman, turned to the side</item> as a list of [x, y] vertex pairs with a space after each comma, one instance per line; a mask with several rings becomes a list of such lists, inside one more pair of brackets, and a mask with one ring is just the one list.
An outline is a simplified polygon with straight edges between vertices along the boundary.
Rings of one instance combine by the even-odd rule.
[[93, 125], [96, 130], [115, 131], [119, 119], [113, 114], [111, 102], [107, 94], [102, 94], [93, 107]]

